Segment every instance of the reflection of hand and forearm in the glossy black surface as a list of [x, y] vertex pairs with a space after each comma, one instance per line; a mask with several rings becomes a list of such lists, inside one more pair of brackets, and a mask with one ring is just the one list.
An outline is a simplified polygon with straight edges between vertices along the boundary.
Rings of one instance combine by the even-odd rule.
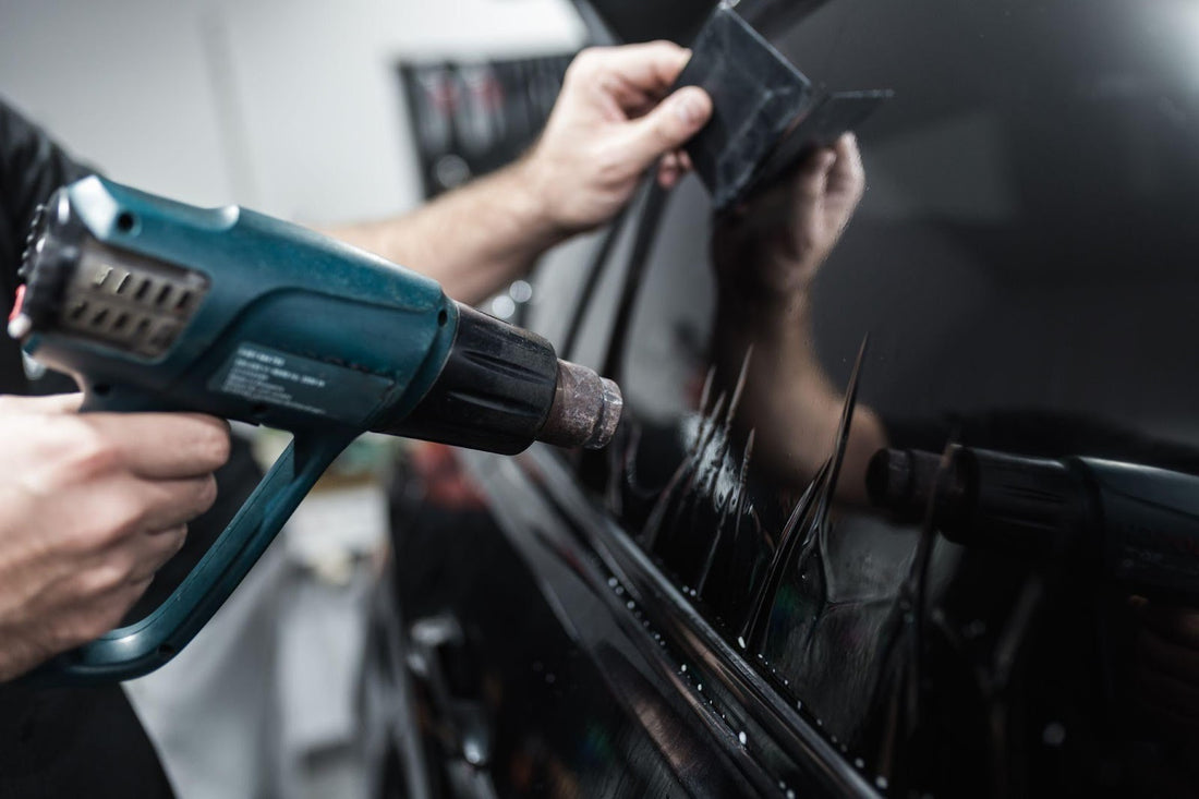
[[[802, 487], [830, 456], [844, 397], [812, 346], [811, 287], [866, 186], [852, 134], [813, 152], [785, 186], [722, 220], [712, 241], [718, 281], [716, 364], [736, 379], [752, 348], [741, 425], [757, 429], [755, 459]], [[864, 503], [866, 465], [886, 443], [878, 416], [854, 413], [838, 495]]]

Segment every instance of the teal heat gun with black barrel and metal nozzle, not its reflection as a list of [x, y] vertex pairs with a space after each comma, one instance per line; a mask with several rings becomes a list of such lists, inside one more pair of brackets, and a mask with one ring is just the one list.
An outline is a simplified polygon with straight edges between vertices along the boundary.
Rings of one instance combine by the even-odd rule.
[[224, 533], [152, 613], [36, 680], [125, 680], [167, 662], [236, 588], [341, 451], [367, 431], [516, 453], [604, 446], [611, 380], [436, 282], [237, 206], [100, 178], [35, 220], [8, 330], [74, 376], [84, 410], [193, 410], [293, 433]]

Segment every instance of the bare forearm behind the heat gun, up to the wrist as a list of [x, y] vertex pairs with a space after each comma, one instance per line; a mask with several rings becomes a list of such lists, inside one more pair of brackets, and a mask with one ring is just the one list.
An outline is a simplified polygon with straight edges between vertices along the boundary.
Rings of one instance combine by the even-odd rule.
[[524, 275], [566, 238], [518, 161], [411, 214], [326, 230], [348, 244], [441, 283], [475, 305]]

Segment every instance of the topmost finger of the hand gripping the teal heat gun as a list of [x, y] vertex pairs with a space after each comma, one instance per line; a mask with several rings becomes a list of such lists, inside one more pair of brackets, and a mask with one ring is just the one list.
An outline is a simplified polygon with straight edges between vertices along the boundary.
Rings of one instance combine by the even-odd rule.
[[201, 414], [84, 414], [133, 474], [195, 477], [229, 459], [229, 423]]

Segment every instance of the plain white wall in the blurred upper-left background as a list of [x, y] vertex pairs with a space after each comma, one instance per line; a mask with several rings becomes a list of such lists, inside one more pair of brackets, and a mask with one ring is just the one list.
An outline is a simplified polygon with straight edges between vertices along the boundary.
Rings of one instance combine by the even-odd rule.
[[418, 200], [399, 59], [583, 35], [567, 0], [0, 0], [0, 95], [116, 180], [348, 221]]

